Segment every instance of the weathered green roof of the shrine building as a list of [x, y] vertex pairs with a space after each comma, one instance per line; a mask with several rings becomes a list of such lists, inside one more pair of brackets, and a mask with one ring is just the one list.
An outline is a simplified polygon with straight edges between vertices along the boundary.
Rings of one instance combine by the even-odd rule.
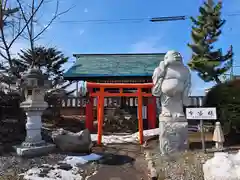
[[152, 76], [164, 53], [74, 54], [75, 64], [64, 78]]

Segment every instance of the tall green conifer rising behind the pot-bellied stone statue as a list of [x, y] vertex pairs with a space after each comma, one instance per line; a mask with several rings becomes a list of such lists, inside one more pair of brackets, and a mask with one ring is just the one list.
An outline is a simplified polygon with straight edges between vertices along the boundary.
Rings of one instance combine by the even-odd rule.
[[224, 55], [222, 49], [214, 50], [213, 43], [221, 35], [221, 28], [226, 22], [221, 19], [222, 2], [212, 4], [204, 2], [199, 8], [197, 19], [191, 17], [193, 43], [188, 44], [192, 58], [188, 63], [191, 70], [197, 71], [205, 82], [221, 83], [220, 76], [232, 67], [232, 46]]

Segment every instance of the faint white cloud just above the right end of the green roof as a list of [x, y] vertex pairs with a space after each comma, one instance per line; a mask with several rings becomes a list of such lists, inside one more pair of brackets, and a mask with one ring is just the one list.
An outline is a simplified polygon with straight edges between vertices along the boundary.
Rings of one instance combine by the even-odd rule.
[[161, 37], [149, 37], [131, 45], [132, 53], [163, 53], [169, 48], [161, 41]]

